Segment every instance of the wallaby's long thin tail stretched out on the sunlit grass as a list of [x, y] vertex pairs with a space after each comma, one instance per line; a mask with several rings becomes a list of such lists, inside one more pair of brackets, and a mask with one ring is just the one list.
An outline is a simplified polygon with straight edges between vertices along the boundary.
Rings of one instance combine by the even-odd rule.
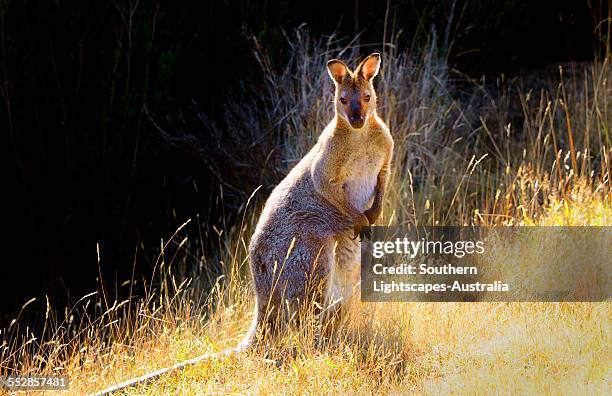
[[193, 364], [199, 363], [203, 360], [208, 360], [208, 359], [220, 359], [220, 358], [224, 358], [236, 353], [240, 353], [240, 352], [245, 352], [247, 351], [249, 348], [251, 348], [251, 346], [253, 346], [254, 342], [255, 342], [255, 336], [257, 334], [257, 327], [259, 325], [259, 319], [258, 319], [258, 309], [255, 309], [255, 316], [253, 317], [253, 322], [251, 323], [251, 327], [249, 328], [248, 333], [246, 334], [246, 336], [243, 338], [242, 341], [240, 341], [238, 343], [238, 345], [234, 348], [229, 348], [226, 349], [224, 351], [221, 352], [217, 352], [217, 353], [206, 353], [204, 355], [200, 355], [197, 357], [194, 357], [193, 359], [189, 359], [189, 360], [185, 360], [179, 363], [176, 363], [173, 366], [170, 367], [165, 367], [162, 369], [159, 369], [157, 371], [153, 371], [150, 373], [147, 373], [145, 375], [142, 375], [140, 377], [137, 378], [133, 378], [124, 382], [120, 382], [116, 385], [113, 385], [111, 387], [108, 387], [104, 390], [101, 390], [100, 392], [95, 393], [94, 395], [96, 396], [102, 396], [102, 395], [109, 395], [112, 394], [114, 392], [118, 392], [122, 389], [125, 388], [130, 388], [132, 386], [136, 386], [136, 385], [144, 385], [147, 384], [155, 379], [157, 379], [158, 377], [170, 373], [172, 371], [175, 370], [182, 370], [187, 366], [191, 366]]

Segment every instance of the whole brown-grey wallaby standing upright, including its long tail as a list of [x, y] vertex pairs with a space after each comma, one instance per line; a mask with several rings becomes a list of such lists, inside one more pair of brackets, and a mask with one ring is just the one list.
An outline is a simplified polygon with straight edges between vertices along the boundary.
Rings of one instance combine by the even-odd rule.
[[393, 156], [389, 128], [376, 113], [372, 80], [379, 68], [378, 53], [365, 58], [354, 71], [336, 59], [327, 63], [335, 85], [335, 116], [263, 208], [249, 244], [256, 302], [243, 341], [235, 348], [178, 363], [101, 394], [204, 359], [244, 351], [254, 344], [260, 328], [276, 328], [279, 318], [286, 320], [304, 304], [316, 302], [327, 312], [337, 312], [350, 298], [359, 277], [357, 236], [382, 211]]

